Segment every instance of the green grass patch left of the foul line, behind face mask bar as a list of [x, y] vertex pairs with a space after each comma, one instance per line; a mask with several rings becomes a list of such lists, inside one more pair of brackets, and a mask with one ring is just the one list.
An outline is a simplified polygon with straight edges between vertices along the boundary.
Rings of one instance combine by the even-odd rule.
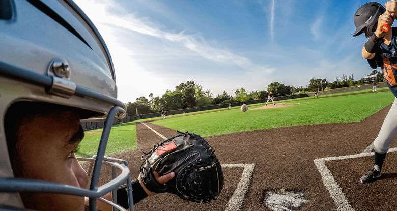
[[[97, 153], [102, 129], [84, 132], [76, 152], [78, 157], [91, 157]], [[123, 123], [111, 128], [106, 155], [114, 155], [136, 148], [136, 123]]]

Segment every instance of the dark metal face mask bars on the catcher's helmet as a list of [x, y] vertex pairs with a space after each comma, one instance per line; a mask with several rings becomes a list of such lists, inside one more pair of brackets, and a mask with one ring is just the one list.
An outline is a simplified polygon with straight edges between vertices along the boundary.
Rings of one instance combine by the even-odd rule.
[[[32, 71], [28, 71], [22, 68], [8, 65], [3, 62], [0, 62], [0, 75], [16, 78], [22, 81], [31, 82], [37, 85], [42, 85], [47, 90], [48, 88], [51, 88], [51, 86], [54, 83], [53, 76], [40, 75]], [[94, 156], [94, 158], [78, 158], [78, 160], [80, 161], [89, 161], [94, 163], [90, 189], [83, 189], [74, 186], [56, 184], [51, 182], [39, 181], [39, 180], [13, 178], [13, 177], [0, 177], [0, 192], [46, 192], [46, 193], [59, 193], [59, 194], [68, 194], [68, 195], [76, 195], [76, 196], [87, 196], [90, 198], [89, 208], [91, 211], [97, 210], [97, 203], [96, 203], [97, 199], [111, 205], [114, 210], [125, 210], [123, 207], [114, 203], [116, 202], [116, 194], [112, 194], [113, 202], [100, 197], [109, 192], [115, 193], [115, 190], [119, 186], [127, 183], [129, 208], [130, 210], [134, 210], [130, 171], [128, 168], [128, 163], [121, 159], [104, 156], [114, 118], [115, 116], [119, 118], [124, 117], [125, 110], [122, 107], [125, 107], [125, 105], [121, 101], [115, 98], [105, 96], [103, 94], [91, 91], [90, 89], [80, 86], [76, 86], [74, 95], [88, 96], [115, 105], [110, 109], [106, 117], [105, 125], [98, 146], [97, 155]], [[102, 168], [102, 163], [111, 166], [112, 180], [98, 187], [98, 180], [100, 177], [100, 170]], [[90, 169], [91, 167], [92, 167], [92, 163], [90, 165]], [[114, 168], [121, 170], [120, 175], [117, 176], [116, 178], [114, 178], [115, 177]]]

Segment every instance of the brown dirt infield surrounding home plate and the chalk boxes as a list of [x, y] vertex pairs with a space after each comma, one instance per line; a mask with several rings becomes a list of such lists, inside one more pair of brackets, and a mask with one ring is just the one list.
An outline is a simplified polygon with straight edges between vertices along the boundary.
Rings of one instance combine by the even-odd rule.
[[[358, 123], [320, 124], [257, 130], [212, 136], [206, 138], [206, 140], [215, 148], [215, 153], [222, 164], [256, 164], [249, 190], [244, 198], [242, 210], [269, 210], [263, 203], [264, 192], [280, 189], [303, 192], [309, 202], [304, 204], [301, 210], [335, 210], [334, 201], [326, 190], [313, 160], [316, 158], [360, 153], [377, 136], [389, 109], [390, 106], [387, 106], [373, 116]], [[176, 134], [172, 129], [151, 123], [145, 124], [166, 137]], [[136, 128], [139, 149], [114, 156], [129, 162], [132, 178], [136, 178], [138, 175], [138, 169], [141, 163], [140, 156], [142, 155], [140, 150], [149, 149], [154, 143], [162, 140], [160, 137], [156, 137], [157, 135], [143, 124], [137, 123]], [[393, 145], [395, 144], [394, 142]], [[327, 165], [330, 165], [332, 173], [341, 170], [339, 173], [335, 173], [335, 179], [339, 179], [339, 181], [344, 181], [341, 179], [346, 179], [347, 177], [351, 179], [351, 183], [339, 185], [341, 185], [344, 191], [346, 189], [345, 194], [347, 194], [352, 205], [354, 207], [360, 207], [357, 210], [362, 210], [361, 208], [365, 207], [373, 209], [374, 205], [379, 205], [380, 209], [382, 207], [397, 207], [397, 201], [390, 196], [382, 198], [382, 200], [387, 200], [383, 203], [383, 206], [382, 203], [370, 199], [365, 202], [366, 204], [360, 205], [359, 200], [362, 190], [352, 189], [349, 193], [349, 187], [346, 188], [345, 186], [354, 184], [357, 187], [362, 187], [361, 184], [358, 184], [358, 178], [362, 172], [367, 170], [372, 158], [368, 157], [365, 159], [367, 159], [365, 162], [358, 162], [365, 164], [362, 164], [362, 167], [356, 166], [353, 168], [355, 164], [339, 164], [345, 161], [338, 162], [335, 165], [336, 167], [333, 167], [332, 163], [327, 163]], [[393, 163], [392, 158], [387, 158], [386, 161]], [[387, 166], [391, 166], [391, 164]], [[390, 168], [389, 170], [390, 172], [397, 172], [397, 168]], [[224, 169], [224, 172], [225, 188], [222, 190], [221, 196], [217, 201], [208, 204], [196, 204], [183, 201], [171, 194], [159, 194], [139, 202], [136, 204], [136, 209], [224, 210], [228, 205], [236, 184], [240, 180], [241, 170]], [[108, 170], [105, 169], [103, 175], [108, 175]], [[107, 178], [105, 176], [101, 181], [104, 182]], [[393, 181], [395, 184], [395, 180]], [[385, 194], [385, 190], [394, 193], [393, 191], [396, 190], [395, 188], [389, 190], [392, 187], [391, 184], [386, 186], [380, 182], [378, 186], [379, 189], [384, 189], [383, 192], [379, 192], [378, 194]]]

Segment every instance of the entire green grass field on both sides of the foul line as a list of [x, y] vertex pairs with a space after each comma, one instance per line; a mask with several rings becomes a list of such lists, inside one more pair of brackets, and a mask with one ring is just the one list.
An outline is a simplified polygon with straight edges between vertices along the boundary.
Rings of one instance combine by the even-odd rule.
[[[276, 103], [286, 102], [296, 105], [274, 109], [252, 110], [264, 105], [264, 103], [259, 103], [249, 105], [247, 112], [241, 112], [240, 107], [236, 106], [231, 110], [221, 108], [172, 115], [172, 118], [168, 116], [165, 120], [156, 117], [140, 119], [140, 121], [154, 120], [152, 122], [154, 124], [194, 132], [204, 137], [286, 126], [359, 122], [393, 102], [394, 96], [390, 92], [362, 94], [370, 90], [323, 95], [316, 99], [306, 97], [277, 101]], [[355, 93], [357, 95], [341, 96]], [[136, 122], [138, 121], [116, 125], [112, 128], [106, 155], [136, 148]], [[101, 133], [102, 129], [87, 131], [76, 154], [81, 157], [94, 155], [98, 149]]]

